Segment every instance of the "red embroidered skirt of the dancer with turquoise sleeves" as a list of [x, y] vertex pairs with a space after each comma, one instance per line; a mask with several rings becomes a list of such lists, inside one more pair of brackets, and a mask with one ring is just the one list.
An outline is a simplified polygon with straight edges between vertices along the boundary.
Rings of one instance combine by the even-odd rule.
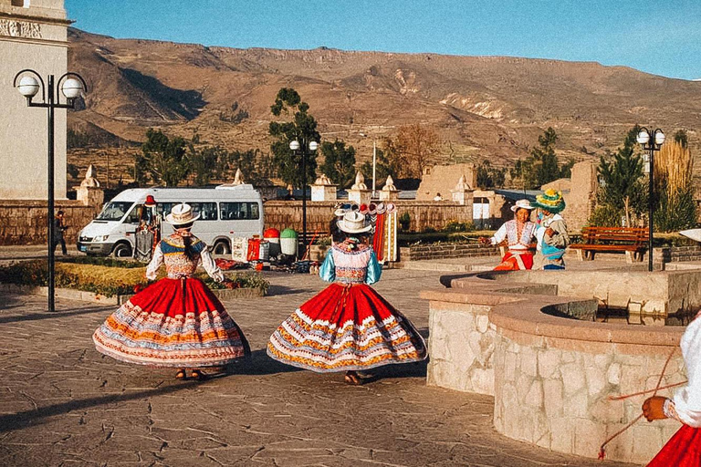
[[348, 371], [420, 361], [426, 345], [371, 286], [331, 284], [277, 327], [267, 354], [312, 371]]

